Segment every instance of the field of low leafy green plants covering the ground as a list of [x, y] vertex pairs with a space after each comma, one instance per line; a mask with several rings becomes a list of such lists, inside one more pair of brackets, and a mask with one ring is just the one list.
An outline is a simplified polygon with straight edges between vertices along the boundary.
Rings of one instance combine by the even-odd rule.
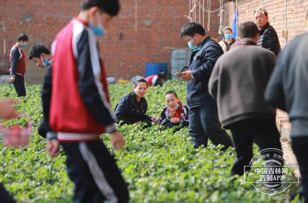
[[[17, 202], [72, 202], [73, 184], [66, 173], [65, 154], [50, 158], [45, 140], [36, 131], [43, 117], [41, 88], [27, 85], [28, 95], [16, 105], [18, 111], [30, 115], [33, 133], [27, 148], [0, 146], [0, 182]], [[130, 83], [110, 85], [112, 108], [131, 89]], [[168, 90], [176, 91], [185, 103], [186, 84], [167, 81], [162, 88], [148, 89], [148, 115], [160, 115]], [[4, 97], [15, 98], [12, 85], [0, 86], [0, 98]], [[194, 149], [187, 129], [173, 133], [172, 129], [153, 125], [144, 130], [140, 126], [123, 126], [119, 130], [125, 136], [123, 151], [113, 151], [108, 135], [102, 135], [102, 139], [118, 161], [129, 185], [131, 202], [299, 202], [299, 184], [283, 193], [266, 195], [244, 184], [242, 176], [231, 181], [234, 150], [222, 152], [221, 146], [211, 144]], [[254, 150], [257, 152], [256, 146]]]

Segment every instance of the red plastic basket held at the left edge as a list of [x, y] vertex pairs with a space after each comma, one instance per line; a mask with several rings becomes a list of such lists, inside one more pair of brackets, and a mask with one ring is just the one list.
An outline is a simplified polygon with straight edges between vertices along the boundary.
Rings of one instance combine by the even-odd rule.
[[28, 127], [14, 125], [12, 127], [4, 126], [4, 119], [1, 124], [1, 139], [5, 147], [27, 147], [32, 133], [32, 120], [28, 116]]

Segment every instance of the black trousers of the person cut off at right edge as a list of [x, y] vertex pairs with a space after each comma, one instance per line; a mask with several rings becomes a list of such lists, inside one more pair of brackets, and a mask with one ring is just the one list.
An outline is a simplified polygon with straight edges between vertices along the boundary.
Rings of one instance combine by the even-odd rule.
[[308, 203], [308, 136], [292, 137], [292, 149], [299, 165], [305, 203]]

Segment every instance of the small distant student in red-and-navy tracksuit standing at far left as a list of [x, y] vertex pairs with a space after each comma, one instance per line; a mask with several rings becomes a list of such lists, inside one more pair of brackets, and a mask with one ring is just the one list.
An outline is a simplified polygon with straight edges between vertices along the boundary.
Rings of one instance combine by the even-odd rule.
[[26, 56], [23, 48], [27, 47], [28, 36], [19, 34], [17, 43], [10, 51], [10, 82], [13, 83], [17, 96], [26, 96], [25, 73], [26, 73]]

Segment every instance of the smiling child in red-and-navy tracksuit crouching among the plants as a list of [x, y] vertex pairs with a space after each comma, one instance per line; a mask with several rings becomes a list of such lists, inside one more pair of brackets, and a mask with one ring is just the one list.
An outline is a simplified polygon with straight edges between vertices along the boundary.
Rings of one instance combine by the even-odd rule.
[[172, 128], [177, 126], [176, 130], [189, 126], [188, 113], [189, 107], [183, 104], [177, 93], [168, 91], [165, 94], [166, 105], [161, 112], [159, 125]]

